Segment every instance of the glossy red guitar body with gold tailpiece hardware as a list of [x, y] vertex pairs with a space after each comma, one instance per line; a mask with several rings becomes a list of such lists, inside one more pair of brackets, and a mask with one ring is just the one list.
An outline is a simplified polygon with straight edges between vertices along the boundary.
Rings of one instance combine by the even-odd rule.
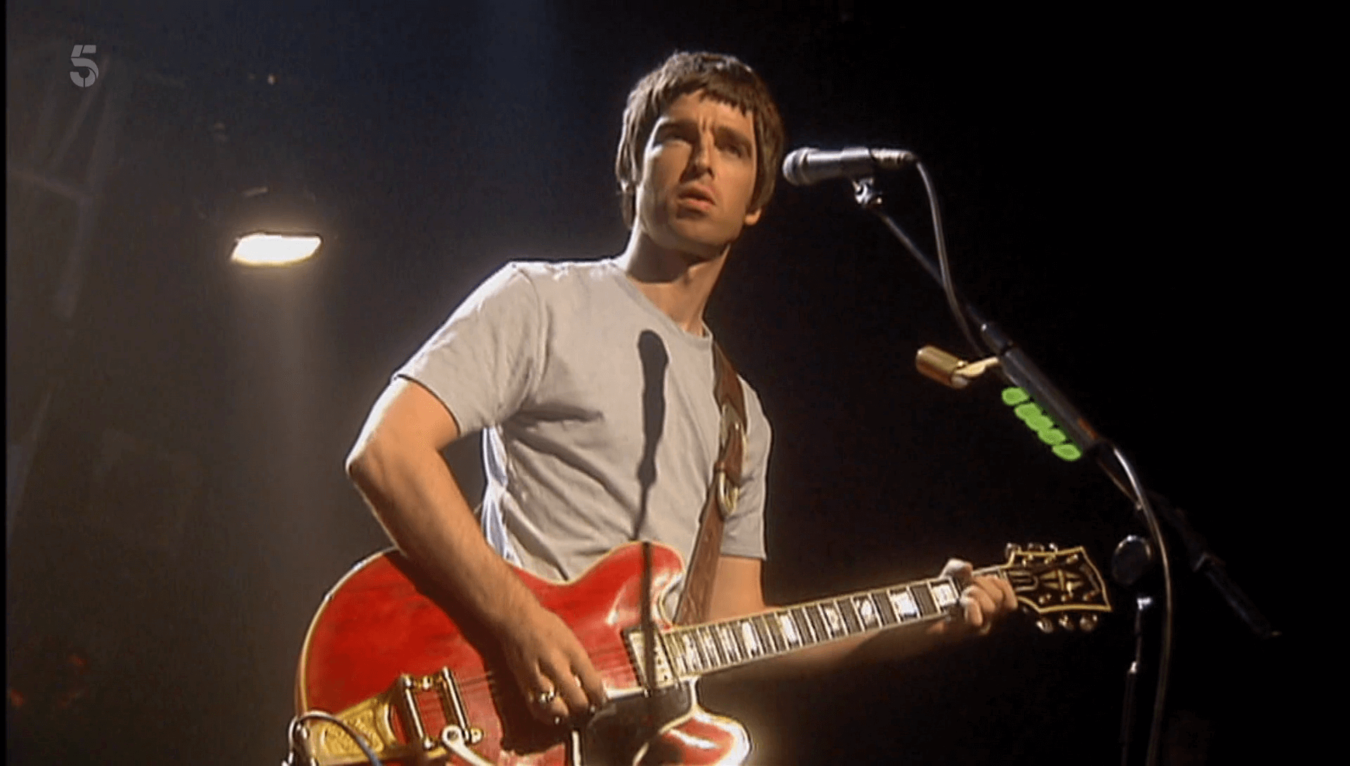
[[[620, 707], [629, 700], [629, 708], [641, 705], [645, 712], [634, 658], [622, 632], [640, 620], [641, 573], [643, 552], [637, 543], [617, 548], [571, 583], [549, 583], [517, 570], [540, 603], [576, 634], [612, 700], [621, 700]], [[679, 554], [653, 545], [653, 604], [660, 603], [680, 573]], [[659, 618], [657, 628], [662, 627], [668, 623]], [[410, 682], [406, 693], [392, 692], [404, 674], [423, 680], [421, 685]], [[433, 678], [447, 684], [432, 688]], [[447, 690], [448, 686], [454, 689]], [[633, 740], [632, 747], [608, 744], [599, 750], [617, 750], [618, 755], [609, 754], [606, 761], [632, 763], [651, 750], [653, 755], [662, 754], [662, 762], [741, 763], [749, 753], [745, 730], [699, 709], [691, 684], [680, 689], [686, 693], [684, 704], [652, 726], [649, 734], [659, 736], [651, 747], [645, 747], [645, 736]], [[410, 704], [400, 708], [400, 697]], [[575, 753], [583, 736], [564, 726], [543, 724], [531, 715], [493, 637], [454, 597], [436, 589], [393, 550], [358, 564], [324, 599], [301, 651], [296, 704], [300, 712], [342, 713], [360, 708], [342, 717], [389, 763], [416, 763], [416, 728], [429, 739], [423, 747], [428, 751], [439, 747], [437, 738], [447, 724], [471, 730], [468, 750], [489, 763], [594, 762], [594, 755]], [[462, 716], [451, 715], [456, 705]], [[412, 708], [418, 711], [418, 721], [409, 717], [406, 711]], [[614, 711], [601, 711], [597, 720], [608, 712]], [[329, 740], [319, 743], [320, 763], [366, 762], [359, 750], [352, 753], [350, 738], [335, 727], [320, 734]], [[595, 730], [589, 735], [594, 740]], [[605, 739], [612, 743], [621, 738]], [[451, 763], [471, 762], [454, 750], [441, 748], [440, 754], [448, 755]]]

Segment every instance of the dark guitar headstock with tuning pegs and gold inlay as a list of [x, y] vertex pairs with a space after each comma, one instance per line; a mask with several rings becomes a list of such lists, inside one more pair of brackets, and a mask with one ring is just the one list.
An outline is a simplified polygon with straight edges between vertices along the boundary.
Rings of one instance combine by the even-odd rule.
[[1096, 612], [1111, 611], [1102, 573], [1081, 546], [1008, 543], [1007, 557], [1002, 569], [1013, 592], [1025, 610], [1038, 615], [1042, 631], [1056, 626], [1089, 631], [1096, 627]]

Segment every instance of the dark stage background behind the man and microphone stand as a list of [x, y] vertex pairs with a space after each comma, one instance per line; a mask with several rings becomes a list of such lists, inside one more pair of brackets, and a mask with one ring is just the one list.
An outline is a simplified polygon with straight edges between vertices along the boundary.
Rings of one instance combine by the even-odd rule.
[[[285, 754], [308, 622], [386, 545], [342, 472], [370, 405], [505, 260], [622, 248], [624, 98], [678, 49], [755, 66], [790, 147], [923, 159], [957, 283], [1188, 510], [1285, 632], [1257, 642], [1177, 562], [1165, 762], [1287, 754], [1304, 703], [1280, 574], [1307, 529], [1292, 468], [1314, 449], [1289, 425], [1316, 401], [1268, 364], [1293, 325], [1278, 236], [1293, 202], [1276, 189], [1305, 150], [1274, 54], [1203, 20], [925, 27], [840, 0], [410, 8], [7, 4], [11, 445], [59, 382], [7, 527], [11, 763]], [[73, 206], [14, 169], [57, 142], [34, 135], [47, 100], [61, 129], [74, 115], [80, 43], [112, 57], [96, 88], [135, 85], [63, 322], [51, 295]], [[78, 179], [92, 140], [51, 174]], [[1293, 159], [1257, 170], [1253, 147]], [[235, 205], [258, 185], [312, 196], [317, 258], [225, 260], [247, 217]], [[883, 187], [932, 251], [917, 175]], [[1002, 561], [1006, 541], [1085, 545], [1106, 569], [1141, 531], [996, 384], [956, 392], [914, 371], [919, 345], [961, 352], [960, 333], [844, 182], [780, 185], [709, 322], [775, 426], [771, 600], [923, 576], [948, 556]], [[477, 491], [477, 438], [450, 459]], [[764, 763], [1119, 762], [1133, 601], [1112, 597], [1091, 635], [1010, 620], [913, 661], [710, 678], [705, 700], [751, 727]]]

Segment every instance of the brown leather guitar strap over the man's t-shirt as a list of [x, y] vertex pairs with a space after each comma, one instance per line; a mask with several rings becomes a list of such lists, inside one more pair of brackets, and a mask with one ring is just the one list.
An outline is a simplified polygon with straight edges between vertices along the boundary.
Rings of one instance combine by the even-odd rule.
[[717, 461], [713, 464], [713, 480], [707, 487], [703, 514], [698, 521], [698, 537], [694, 539], [684, 591], [680, 595], [679, 608], [675, 610], [675, 622], [679, 624], [699, 623], [707, 616], [717, 558], [722, 553], [722, 526], [726, 517], [736, 511], [736, 500], [741, 491], [747, 430], [745, 394], [736, 378], [736, 370], [717, 341], [713, 341], [713, 394], [722, 418], [721, 445]]

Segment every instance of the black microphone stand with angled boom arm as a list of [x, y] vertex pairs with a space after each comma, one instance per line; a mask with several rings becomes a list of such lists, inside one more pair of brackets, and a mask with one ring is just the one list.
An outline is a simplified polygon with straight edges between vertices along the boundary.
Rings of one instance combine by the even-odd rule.
[[[1270, 623], [1265, 619], [1257, 606], [1242, 592], [1242, 588], [1234, 583], [1227, 570], [1223, 568], [1223, 561], [1219, 560], [1214, 553], [1208, 550], [1204, 538], [1195, 531], [1195, 529], [1187, 522], [1185, 515], [1180, 508], [1174, 508], [1172, 503], [1166, 502], [1165, 498], [1146, 491], [1142, 484], [1139, 484], [1138, 476], [1134, 472], [1133, 465], [1120, 453], [1120, 450], [1103, 438], [1096, 430], [1088, 423], [1087, 418], [1073, 406], [1073, 403], [1060, 391], [1050, 379], [1041, 372], [1041, 370], [1031, 361], [1013, 340], [994, 324], [987, 320], [973, 305], [964, 302], [956, 293], [956, 287], [952, 283], [950, 272], [946, 263], [946, 248], [944, 244], [942, 235], [942, 221], [941, 213], [938, 212], [937, 194], [933, 192], [933, 185], [929, 179], [927, 171], [923, 169], [923, 163], [915, 160], [915, 167], [919, 175], [923, 178], [923, 186], [927, 190], [929, 205], [933, 212], [933, 228], [934, 236], [937, 239], [938, 247], [938, 262], [927, 256], [923, 251], [914, 244], [914, 241], [900, 229], [899, 224], [895, 223], [891, 216], [882, 209], [882, 196], [876, 189], [876, 182], [871, 177], [853, 178], [853, 198], [864, 210], [875, 214], [880, 218], [882, 224], [891, 231], [892, 235], [911, 255], [919, 262], [919, 266], [933, 276], [934, 281], [946, 293], [948, 303], [952, 309], [953, 318], [957, 325], [960, 325], [961, 332], [965, 334], [967, 341], [971, 344], [972, 349], [981, 355], [984, 349], [988, 349], [999, 360], [999, 374], [1008, 383], [1021, 387], [1031, 399], [1035, 401], [1041, 407], [1046, 410], [1050, 418], [1066, 433], [1069, 440], [1073, 441], [1084, 454], [1091, 454], [1098, 465], [1102, 467], [1103, 472], [1111, 481], [1125, 494], [1125, 496], [1131, 502], [1135, 508], [1135, 515], [1148, 527], [1149, 537], [1153, 545], [1157, 548], [1157, 560], [1162, 569], [1162, 587], [1164, 587], [1164, 611], [1162, 611], [1162, 628], [1160, 638], [1160, 651], [1158, 651], [1158, 682], [1157, 690], [1153, 697], [1153, 719], [1149, 730], [1149, 747], [1145, 757], [1145, 763], [1148, 766], [1154, 766], [1158, 759], [1158, 744], [1162, 732], [1162, 712], [1166, 703], [1166, 689], [1168, 677], [1170, 670], [1170, 657], [1172, 657], [1172, 624], [1173, 624], [1173, 597], [1172, 597], [1172, 569], [1166, 550], [1166, 542], [1162, 537], [1162, 530], [1158, 523], [1158, 514], [1154, 512], [1156, 508], [1162, 511], [1162, 519], [1168, 522], [1172, 530], [1181, 538], [1183, 545], [1187, 549], [1188, 564], [1196, 574], [1203, 574], [1211, 585], [1219, 592], [1228, 607], [1243, 620], [1251, 631], [1262, 639], [1273, 638], [1278, 635]], [[971, 325], [979, 329], [979, 338], [983, 341], [984, 348], [976, 336], [971, 332]], [[1126, 541], [1122, 541], [1122, 546]], [[1120, 546], [1116, 549], [1120, 550]], [[1133, 583], [1122, 583], [1129, 587]], [[1141, 595], [1137, 593], [1137, 603], [1142, 611], [1142, 604], [1148, 603]], [[1142, 619], [1142, 615], [1141, 615]], [[1126, 700], [1123, 708], [1126, 711], [1126, 721], [1130, 720], [1129, 711], [1134, 705], [1134, 682], [1133, 678], [1138, 672], [1139, 658], [1135, 657], [1135, 662], [1131, 665], [1127, 673], [1126, 682]], [[1126, 736], [1129, 732], [1123, 732]], [[1129, 743], [1122, 742], [1122, 758], [1126, 758], [1129, 753]]]

